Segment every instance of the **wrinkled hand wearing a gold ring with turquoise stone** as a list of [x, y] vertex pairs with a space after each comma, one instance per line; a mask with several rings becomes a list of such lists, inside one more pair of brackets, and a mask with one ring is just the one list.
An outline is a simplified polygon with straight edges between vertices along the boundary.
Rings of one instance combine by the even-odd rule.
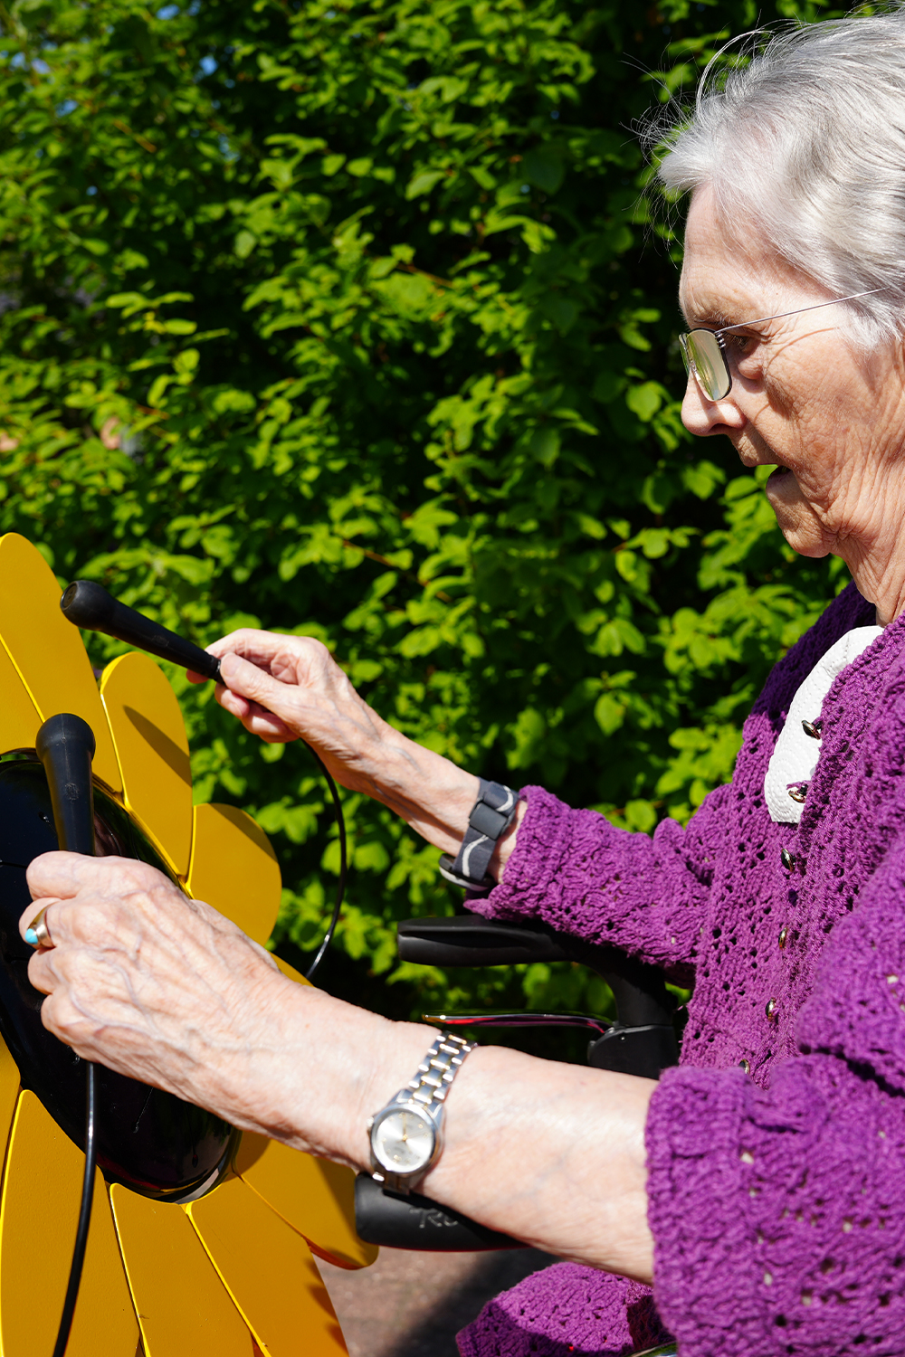
[[261, 1082], [297, 989], [263, 947], [126, 858], [43, 854], [28, 886], [20, 932], [46, 906], [53, 940], [28, 962], [45, 1027], [85, 1060], [261, 1129]]

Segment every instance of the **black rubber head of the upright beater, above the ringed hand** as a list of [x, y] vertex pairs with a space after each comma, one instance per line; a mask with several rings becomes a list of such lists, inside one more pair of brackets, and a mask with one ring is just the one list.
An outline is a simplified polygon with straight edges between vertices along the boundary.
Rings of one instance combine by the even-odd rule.
[[91, 760], [95, 740], [91, 726], [65, 711], [49, 716], [38, 731], [35, 749], [47, 775], [60, 847], [94, 858]]

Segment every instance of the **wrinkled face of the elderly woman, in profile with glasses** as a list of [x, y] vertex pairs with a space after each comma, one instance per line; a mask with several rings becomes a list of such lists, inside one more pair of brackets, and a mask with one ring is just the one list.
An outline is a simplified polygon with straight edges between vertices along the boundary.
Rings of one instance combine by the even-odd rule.
[[[716, 330], [829, 296], [729, 239], [708, 190], [695, 194], [681, 278], [689, 328]], [[727, 334], [731, 391], [711, 402], [689, 377], [682, 422], [695, 434], [726, 434], [746, 467], [775, 465], [767, 495], [790, 546], [851, 565], [902, 520], [905, 381], [898, 351], [855, 350], [845, 309]]]

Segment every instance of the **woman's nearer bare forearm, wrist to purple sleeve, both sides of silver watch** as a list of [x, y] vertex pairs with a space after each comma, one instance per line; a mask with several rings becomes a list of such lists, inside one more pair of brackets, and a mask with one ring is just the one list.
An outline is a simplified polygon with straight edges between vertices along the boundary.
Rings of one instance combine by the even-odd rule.
[[[269, 1111], [250, 1110], [256, 1129], [368, 1168], [368, 1118], [411, 1079], [436, 1031], [274, 984], [277, 1095]], [[452, 1086], [445, 1148], [419, 1190], [548, 1253], [650, 1281], [644, 1122], [655, 1087], [479, 1048]]]

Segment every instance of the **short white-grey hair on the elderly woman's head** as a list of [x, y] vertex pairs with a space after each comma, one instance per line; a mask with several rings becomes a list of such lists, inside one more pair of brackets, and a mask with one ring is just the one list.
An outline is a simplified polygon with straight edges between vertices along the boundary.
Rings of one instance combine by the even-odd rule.
[[886, 289], [847, 309], [862, 343], [901, 338], [905, 5], [763, 38], [742, 68], [711, 62], [693, 111], [649, 129], [659, 182], [712, 190], [738, 240], [753, 231], [829, 293]]

